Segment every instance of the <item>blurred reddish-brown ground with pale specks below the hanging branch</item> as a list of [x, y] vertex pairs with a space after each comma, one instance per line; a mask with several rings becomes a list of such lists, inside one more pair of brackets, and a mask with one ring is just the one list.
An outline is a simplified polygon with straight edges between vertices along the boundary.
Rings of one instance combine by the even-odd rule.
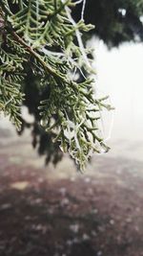
[[0, 256], [143, 255], [143, 144], [112, 142], [84, 175], [0, 128]]

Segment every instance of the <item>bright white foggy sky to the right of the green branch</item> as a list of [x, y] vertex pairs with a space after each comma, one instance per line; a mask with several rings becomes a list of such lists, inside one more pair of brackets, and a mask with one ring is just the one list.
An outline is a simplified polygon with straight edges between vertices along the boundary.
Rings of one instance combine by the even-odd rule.
[[143, 44], [95, 48], [97, 87], [115, 106], [112, 139], [143, 140]]

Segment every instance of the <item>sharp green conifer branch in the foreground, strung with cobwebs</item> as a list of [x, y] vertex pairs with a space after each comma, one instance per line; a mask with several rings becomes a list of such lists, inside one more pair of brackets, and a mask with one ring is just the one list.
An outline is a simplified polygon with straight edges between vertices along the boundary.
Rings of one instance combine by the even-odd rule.
[[31, 83], [36, 80], [41, 92], [48, 88], [39, 103], [41, 126], [82, 170], [93, 151], [109, 150], [98, 122], [102, 108], [111, 106], [105, 104], [107, 98], [95, 97], [90, 51], [81, 40], [81, 33], [92, 25], [72, 21], [70, 0], [10, 2], [0, 3], [0, 110], [20, 129], [31, 70]]

